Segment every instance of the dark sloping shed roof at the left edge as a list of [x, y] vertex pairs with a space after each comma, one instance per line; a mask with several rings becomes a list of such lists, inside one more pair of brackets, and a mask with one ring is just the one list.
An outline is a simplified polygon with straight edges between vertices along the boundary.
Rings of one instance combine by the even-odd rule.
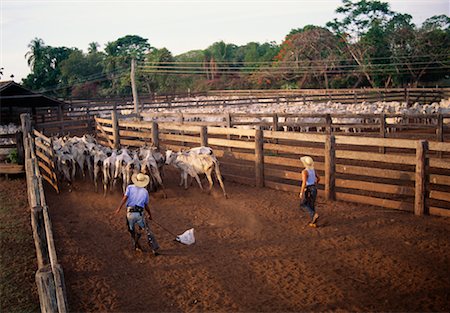
[[0, 107], [53, 107], [59, 105], [64, 105], [64, 102], [32, 92], [14, 81], [0, 82]]

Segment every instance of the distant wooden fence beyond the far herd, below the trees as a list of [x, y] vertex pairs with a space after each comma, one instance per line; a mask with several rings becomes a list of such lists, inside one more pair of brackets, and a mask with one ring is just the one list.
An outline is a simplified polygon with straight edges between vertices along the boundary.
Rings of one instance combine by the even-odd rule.
[[[450, 89], [359, 89], [359, 90], [266, 90], [266, 91], [215, 91], [213, 98], [177, 98], [175, 96], [142, 96], [141, 111], [147, 109], [231, 108], [254, 104], [302, 106], [308, 103], [334, 101], [343, 105], [360, 102], [399, 101], [421, 104], [439, 102], [450, 97]], [[237, 97], [236, 97], [237, 96]], [[234, 97], [234, 98], [232, 98]], [[70, 99], [64, 109], [44, 108], [33, 117], [38, 130], [46, 134], [81, 134], [94, 130], [93, 117], [104, 117], [111, 110], [133, 112], [131, 98]]]

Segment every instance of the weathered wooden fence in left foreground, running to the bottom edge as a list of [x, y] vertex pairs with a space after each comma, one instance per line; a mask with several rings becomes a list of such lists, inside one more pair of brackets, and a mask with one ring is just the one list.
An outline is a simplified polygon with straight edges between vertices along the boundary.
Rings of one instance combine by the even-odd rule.
[[61, 265], [58, 263], [52, 224], [45, 201], [39, 157], [33, 139], [30, 117], [21, 115], [25, 146], [25, 169], [28, 203], [31, 209], [31, 226], [38, 270], [36, 284], [42, 312], [68, 312], [66, 287]]

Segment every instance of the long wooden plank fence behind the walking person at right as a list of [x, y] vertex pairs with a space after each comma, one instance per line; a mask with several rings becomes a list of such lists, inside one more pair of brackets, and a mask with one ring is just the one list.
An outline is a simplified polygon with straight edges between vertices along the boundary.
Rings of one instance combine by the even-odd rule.
[[97, 118], [96, 129], [99, 142], [115, 148], [207, 145], [229, 180], [290, 192], [299, 191], [299, 157], [311, 155], [326, 199], [450, 216], [450, 143], [131, 122], [114, 113]]

